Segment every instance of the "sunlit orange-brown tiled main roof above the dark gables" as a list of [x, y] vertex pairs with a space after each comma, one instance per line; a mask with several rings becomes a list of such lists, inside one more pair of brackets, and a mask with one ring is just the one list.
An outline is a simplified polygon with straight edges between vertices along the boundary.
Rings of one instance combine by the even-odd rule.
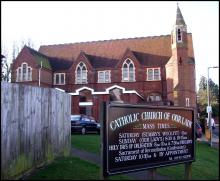
[[[161, 35], [72, 44], [42, 45], [39, 52], [47, 56], [60, 57], [71, 61], [76, 59], [82, 50], [94, 56], [120, 59], [127, 48], [137, 52], [171, 57], [171, 36]], [[194, 57], [192, 35], [190, 33], [188, 33], [188, 56]]]

